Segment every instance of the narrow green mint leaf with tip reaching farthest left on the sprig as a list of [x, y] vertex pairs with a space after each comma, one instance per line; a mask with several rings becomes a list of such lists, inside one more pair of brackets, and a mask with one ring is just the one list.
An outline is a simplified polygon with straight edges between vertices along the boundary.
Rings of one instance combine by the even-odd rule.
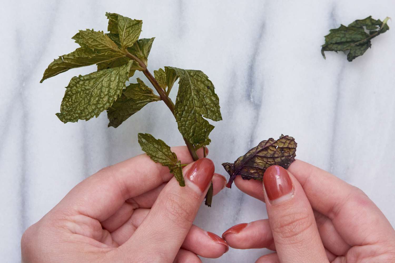
[[49, 64], [48, 68], [44, 71], [44, 75], [43, 78], [40, 80], [40, 83], [47, 78], [51, 78], [58, 75], [59, 73], [68, 71], [72, 68], [85, 67], [100, 62], [108, 63], [113, 60], [122, 59], [122, 57], [123, 55], [121, 54], [96, 53], [90, 48], [80, 47], [71, 52], [70, 54], [60, 56], [59, 58], [55, 59], [51, 64]]

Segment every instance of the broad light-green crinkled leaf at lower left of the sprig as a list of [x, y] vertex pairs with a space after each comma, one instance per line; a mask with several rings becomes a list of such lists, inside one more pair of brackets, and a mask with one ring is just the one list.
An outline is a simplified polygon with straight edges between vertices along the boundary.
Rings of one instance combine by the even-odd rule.
[[71, 78], [56, 116], [64, 123], [98, 117], [121, 95], [131, 64]]

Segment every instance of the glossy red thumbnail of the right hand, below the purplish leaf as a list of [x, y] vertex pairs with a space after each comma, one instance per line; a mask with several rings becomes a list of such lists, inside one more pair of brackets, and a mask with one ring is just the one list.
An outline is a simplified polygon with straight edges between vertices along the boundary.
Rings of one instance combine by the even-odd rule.
[[278, 203], [293, 196], [293, 185], [287, 170], [278, 165], [270, 166], [263, 174], [263, 185], [269, 201]]

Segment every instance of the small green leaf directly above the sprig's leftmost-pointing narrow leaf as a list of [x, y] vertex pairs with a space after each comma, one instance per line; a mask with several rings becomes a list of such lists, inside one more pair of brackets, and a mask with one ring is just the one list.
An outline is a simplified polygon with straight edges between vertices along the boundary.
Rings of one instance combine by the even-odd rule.
[[90, 48], [94, 52], [105, 54], [125, 54], [125, 52], [121, 51], [117, 44], [115, 44], [108, 35], [105, 35], [103, 31], [93, 31], [90, 29], [79, 30], [79, 33], [75, 34], [72, 38], [81, 47]]

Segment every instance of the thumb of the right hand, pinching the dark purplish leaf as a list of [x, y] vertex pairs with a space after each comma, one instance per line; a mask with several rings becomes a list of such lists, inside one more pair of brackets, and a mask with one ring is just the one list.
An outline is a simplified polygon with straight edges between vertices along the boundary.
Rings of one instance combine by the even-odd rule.
[[311, 205], [295, 177], [281, 166], [270, 166], [263, 186], [280, 262], [329, 262]]

